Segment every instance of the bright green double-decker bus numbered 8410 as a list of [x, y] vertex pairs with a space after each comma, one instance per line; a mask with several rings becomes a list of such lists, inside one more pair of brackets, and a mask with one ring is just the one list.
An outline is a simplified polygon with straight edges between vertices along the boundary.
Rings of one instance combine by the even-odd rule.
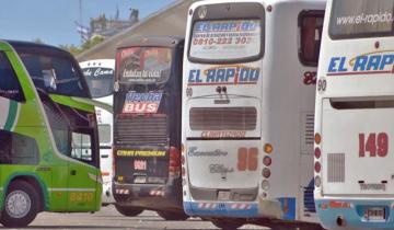
[[101, 206], [97, 125], [82, 71], [67, 51], [0, 42], [0, 222]]

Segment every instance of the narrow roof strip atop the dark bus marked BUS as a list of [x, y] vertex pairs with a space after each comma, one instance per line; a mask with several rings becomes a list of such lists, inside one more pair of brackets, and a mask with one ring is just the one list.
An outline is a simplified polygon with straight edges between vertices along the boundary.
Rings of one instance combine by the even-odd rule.
[[183, 43], [184, 43], [184, 38], [176, 36], [163, 36], [163, 37], [140, 36], [120, 43], [118, 49], [132, 47], [132, 46], [141, 46], [141, 44], [143, 44], [143, 46], [164, 46], [172, 48]]

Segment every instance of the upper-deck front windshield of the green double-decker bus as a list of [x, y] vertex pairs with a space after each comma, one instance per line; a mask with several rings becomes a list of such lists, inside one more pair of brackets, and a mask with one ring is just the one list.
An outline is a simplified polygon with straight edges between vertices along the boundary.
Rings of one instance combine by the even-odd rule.
[[15, 49], [37, 90], [60, 95], [90, 97], [82, 72], [71, 56], [58, 50], [46, 50], [47, 48], [15, 46]]

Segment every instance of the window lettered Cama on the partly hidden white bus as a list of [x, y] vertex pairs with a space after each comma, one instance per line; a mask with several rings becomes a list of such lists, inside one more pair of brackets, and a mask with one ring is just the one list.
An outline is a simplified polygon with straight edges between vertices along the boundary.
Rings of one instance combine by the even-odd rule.
[[103, 67], [84, 68], [83, 74], [93, 99], [112, 95], [114, 69]]

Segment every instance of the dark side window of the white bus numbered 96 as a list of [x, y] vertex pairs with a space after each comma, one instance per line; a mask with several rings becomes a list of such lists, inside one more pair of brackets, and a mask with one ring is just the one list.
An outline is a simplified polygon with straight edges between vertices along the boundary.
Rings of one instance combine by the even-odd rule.
[[305, 66], [317, 66], [322, 42], [324, 11], [303, 11], [299, 16], [300, 60]]

